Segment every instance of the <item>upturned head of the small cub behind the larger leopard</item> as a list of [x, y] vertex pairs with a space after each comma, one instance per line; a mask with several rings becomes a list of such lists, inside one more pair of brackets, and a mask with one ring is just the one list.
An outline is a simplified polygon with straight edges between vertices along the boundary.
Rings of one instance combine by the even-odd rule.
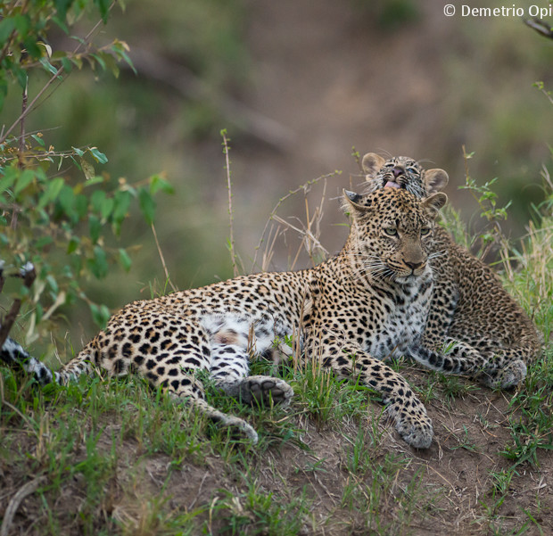
[[394, 156], [384, 160], [375, 153], [367, 153], [362, 161], [368, 191], [380, 188], [403, 188], [419, 199], [440, 192], [448, 184], [448, 174], [443, 169], [423, 169], [409, 156]]

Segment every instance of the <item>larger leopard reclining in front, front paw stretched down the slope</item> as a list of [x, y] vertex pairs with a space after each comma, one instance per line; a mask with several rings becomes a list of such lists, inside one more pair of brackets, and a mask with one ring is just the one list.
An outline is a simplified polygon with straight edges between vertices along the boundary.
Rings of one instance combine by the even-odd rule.
[[381, 359], [420, 346], [433, 290], [433, 221], [446, 199], [434, 194], [419, 201], [390, 188], [344, 193], [350, 235], [342, 252], [316, 268], [241, 276], [134, 301], [59, 372], [11, 339], [0, 358], [21, 365], [40, 383], [66, 383], [95, 367], [111, 375], [136, 372], [256, 441], [252, 426], [208, 405], [197, 373], [209, 373], [223, 392], [244, 402], [287, 403], [292, 388], [281, 379], [248, 375], [249, 358], [301, 334], [307, 359], [370, 385], [403, 439], [426, 448], [433, 428], [425, 407]]

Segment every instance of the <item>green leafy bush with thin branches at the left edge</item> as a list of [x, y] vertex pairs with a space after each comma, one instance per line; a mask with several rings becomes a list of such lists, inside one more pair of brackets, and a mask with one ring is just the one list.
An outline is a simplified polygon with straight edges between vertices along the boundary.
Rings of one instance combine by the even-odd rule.
[[[154, 194], [172, 191], [159, 175], [132, 185], [125, 178], [98, 175], [95, 167], [108, 159], [97, 147], [57, 151], [45, 143], [42, 133], [25, 131], [29, 113], [70, 70], [88, 65], [117, 76], [117, 62], [130, 64], [124, 42], [116, 39], [97, 48], [91, 40], [107, 21], [109, 10], [110, 3], [103, 0], [0, 6], [0, 111], [9, 92], [21, 91], [21, 114], [0, 133], [0, 260], [7, 275], [19, 274], [28, 262], [36, 268], [37, 279], [30, 289], [24, 284], [6, 285], [9, 299], [26, 304], [26, 343], [50, 331], [56, 310], [76, 301], [88, 304], [98, 326], [105, 324], [110, 311], [87, 296], [83, 282], [102, 279], [114, 265], [128, 271], [129, 252], [114, 238], [133, 204], [152, 225]], [[47, 45], [51, 31], [69, 34], [88, 11], [100, 20], [87, 37], [70, 36], [77, 44], [74, 50], [53, 51]], [[31, 98], [29, 80], [40, 80], [44, 71], [49, 78]]]

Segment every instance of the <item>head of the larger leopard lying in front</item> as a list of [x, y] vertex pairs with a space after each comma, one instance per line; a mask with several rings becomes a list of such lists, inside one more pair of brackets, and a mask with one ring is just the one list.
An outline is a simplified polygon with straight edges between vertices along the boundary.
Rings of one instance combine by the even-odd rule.
[[420, 200], [401, 188], [382, 188], [362, 195], [344, 190], [343, 197], [351, 215], [346, 253], [357, 276], [404, 284], [430, 273], [434, 219], [446, 194]]

